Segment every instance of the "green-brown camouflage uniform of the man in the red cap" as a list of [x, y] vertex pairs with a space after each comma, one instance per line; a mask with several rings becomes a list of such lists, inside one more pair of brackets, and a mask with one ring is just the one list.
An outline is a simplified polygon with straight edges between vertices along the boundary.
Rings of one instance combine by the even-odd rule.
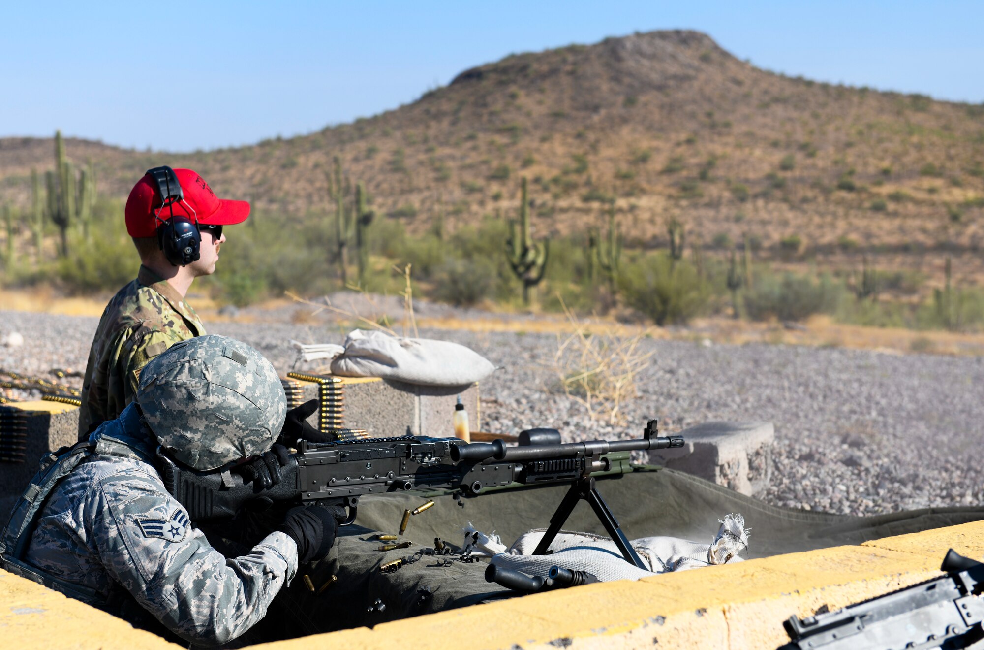
[[106, 305], [92, 339], [82, 386], [79, 439], [92, 423], [117, 418], [133, 401], [140, 372], [179, 341], [205, 334], [198, 314], [146, 266]]

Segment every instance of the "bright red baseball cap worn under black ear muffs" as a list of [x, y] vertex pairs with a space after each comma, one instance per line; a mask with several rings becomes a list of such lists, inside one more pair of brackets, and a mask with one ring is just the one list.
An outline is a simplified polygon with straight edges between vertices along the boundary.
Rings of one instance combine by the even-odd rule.
[[207, 226], [241, 224], [249, 217], [248, 202], [219, 199], [197, 171], [175, 169], [174, 174], [181, 183], [184, 200], [164, 208], [158, 217], [154, 217], [154, 211], [162, 199], [150, 175], [144, 174], [130, 190], [130, 198], [126, 200], [126, 231], [131, 237], [153, 237], [157, 224], [170, 218], [172, 209], [175, 215]]

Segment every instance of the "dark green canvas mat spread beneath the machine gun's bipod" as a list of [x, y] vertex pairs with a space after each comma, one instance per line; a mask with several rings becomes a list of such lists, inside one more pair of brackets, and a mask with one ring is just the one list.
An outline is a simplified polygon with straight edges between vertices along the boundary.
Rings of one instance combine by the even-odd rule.
[[[717, 532], [718, 519], [739, 512], [745, 516], [746, 527], [752, 529], [750, 546], [744, 553], [747, 558], [855, 545], [984, 519], [981, 507], [926, 508], [877, 517], [793, 510], [688, 474], [654, 468], [609, 475], [598, 479], [596, 485], [629, 539], [665, 535], [707, 544]], [[268, 627], [267, 640], [372, 626], [517, 596], [485, 581], [484, 561], [444, 565], [443, 558], [425, 555], [392, 573], [384, 573], [380, 566], [417, 549], [433, 547], [435, 537], [461, 547], [461, 529], [468, 522], [484, 533], [498, 533], [509, 546], [526, 531], [549, 524], [567, 487], [513, 487], [463, 497], [442, 489], [363, 498], [355, 525], [340, 529], [329, 558], [313, 569], [302, 569], [285, 598], [277, 598], [281, 605], [284, 600], [290, 605], [275, 607], [278, 629]], [[411, 516], [402, 538], [413, 546], [380, 552], [379, 547], [389, 543], [376, 540], [377, 532], [396, 534], [404, 509], [413, 509], [428, 499], [434, 500], [434, 506]], [[604, 534], [586, 503], [578, 505], [565, 529]], [[316, 593], [311, 593], [303, 581], [305, 570]]]

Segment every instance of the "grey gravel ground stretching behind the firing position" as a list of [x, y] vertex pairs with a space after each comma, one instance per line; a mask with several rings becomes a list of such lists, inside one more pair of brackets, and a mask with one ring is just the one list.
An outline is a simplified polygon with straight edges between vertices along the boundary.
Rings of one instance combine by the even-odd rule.
[[[85, 369], [96, 323], [0, 311], [0, 337], [11, 331], [25, 337], [22, 347], [0, 348], [0, 369], [31, 375]], [[281, 372], [294, 363], [290, 339], [343, 338], [328, 324], [215, 323], [209, 331], [255, 346]], [[584, 439], [636, 437], [651, 417], [664, 431], [710, 420], [765, 420], [776, 434], [770, 503], [878, 514], [984, 502], [984, 469], [969, 453], [984, 432], [984, 357], [645, 340], [642, 350], [654, 355], [637, 377], [640, 395], [625, 408], [628, 423], [613, 426], [591, 422], [581, 405], [548, 392], [557, 348], [552, 335], [420, 335], [459, 342], [504, 366], [482, 383], [483, 430], [556, 426]]]

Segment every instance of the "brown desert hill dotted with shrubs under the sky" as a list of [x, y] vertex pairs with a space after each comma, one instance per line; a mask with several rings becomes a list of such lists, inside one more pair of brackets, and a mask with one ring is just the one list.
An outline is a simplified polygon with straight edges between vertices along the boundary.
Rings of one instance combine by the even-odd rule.
[[[50, 168], [52, 149], [0, 139], [3, 196], [27, 203], [31, 168]], [[168, 155], [68, 140], [67, 150], [91, 159], [112, 195], [169, 163], [261, 210], [314, 216], [331, 211], [326, 172], [338, 156], [377, 212], [411, 231], [438, 212], [449, 227], [509, 216], [523, 175], [540, 233], [581, 230], [614, 205], [641, 244], [659, 243], [670, 216], [721, 248], [744, 235], [786, 252], [984, 243], [980, 105], [784, 77], [699, 32], [511, 55], [395, 110], [250, 147]]]

